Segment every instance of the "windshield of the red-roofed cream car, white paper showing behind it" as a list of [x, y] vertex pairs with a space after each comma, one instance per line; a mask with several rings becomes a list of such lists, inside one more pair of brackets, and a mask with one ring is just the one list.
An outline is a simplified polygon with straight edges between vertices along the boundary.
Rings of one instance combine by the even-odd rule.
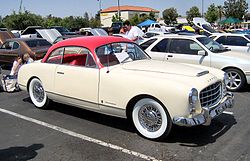
[[134, 43], [112, 43], [96, 49], [96, 55], [103, 66], [149, 59], [142, 49]]

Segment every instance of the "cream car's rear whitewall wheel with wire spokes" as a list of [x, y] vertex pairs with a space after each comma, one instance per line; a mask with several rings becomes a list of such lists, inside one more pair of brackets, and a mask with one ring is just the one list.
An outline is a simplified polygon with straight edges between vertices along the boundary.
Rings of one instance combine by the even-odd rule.
[[46, 109], [49, 104], [49, 99], [43, 88], [42, 82], [34, 78], [29, 84], [29, 95], [31, 101], [37, 108]]

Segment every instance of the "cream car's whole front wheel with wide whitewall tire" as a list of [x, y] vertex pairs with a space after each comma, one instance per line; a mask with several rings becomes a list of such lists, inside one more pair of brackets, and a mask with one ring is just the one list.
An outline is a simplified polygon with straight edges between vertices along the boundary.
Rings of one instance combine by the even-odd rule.
[[166, 138], [172, 128], [167, 110], [151, 98], [143, 98], [135, 104], [132, 120], [137, 131], [152, 140]]

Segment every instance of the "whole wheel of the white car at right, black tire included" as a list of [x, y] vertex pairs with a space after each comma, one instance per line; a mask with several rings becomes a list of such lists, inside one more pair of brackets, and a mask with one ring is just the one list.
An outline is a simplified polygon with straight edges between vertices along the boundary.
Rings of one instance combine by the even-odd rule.
[[246, 84], [245, 75], [239, 70], [234, 68], [226, 69], [225, 72], [228, 75], [229, 81], [227, 83], [227, 89], [229, 91], [239, 91]]

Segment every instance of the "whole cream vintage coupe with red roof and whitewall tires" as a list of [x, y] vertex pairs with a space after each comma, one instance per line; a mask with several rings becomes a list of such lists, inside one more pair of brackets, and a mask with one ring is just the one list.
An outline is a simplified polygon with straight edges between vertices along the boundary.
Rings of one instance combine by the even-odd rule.
[[148, 139], [163, 139], [172, 124], [209, 125], [233, 106], [220, 70], [151, 60], [121, 37], [58, 42], [41, 62], [23, 65], [19, 86], [38, 108], [49, 100], [132, 119]]

